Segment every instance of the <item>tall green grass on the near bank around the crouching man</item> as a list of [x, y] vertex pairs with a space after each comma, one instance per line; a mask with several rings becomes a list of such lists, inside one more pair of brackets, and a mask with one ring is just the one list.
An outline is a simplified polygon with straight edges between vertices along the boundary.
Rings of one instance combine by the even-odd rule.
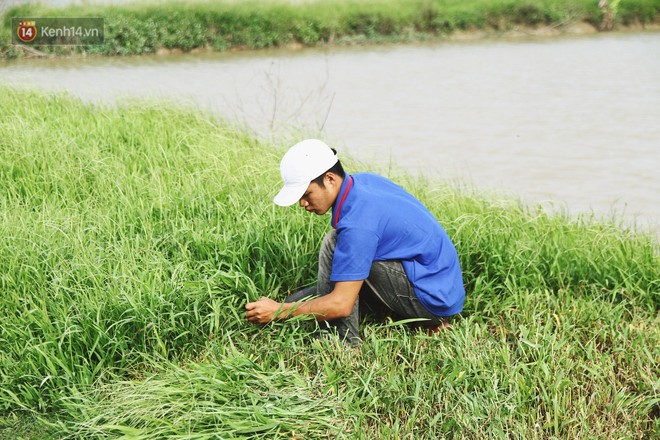
[[354, 351], [248, 323], [314, 281], [329, 228], [271, 203], [278, 147], [0, 89], [0, 438], [658, 434], [657, 238], [609, 223], [393, 175], [458, 248], [453, 329], [368, 323]]

